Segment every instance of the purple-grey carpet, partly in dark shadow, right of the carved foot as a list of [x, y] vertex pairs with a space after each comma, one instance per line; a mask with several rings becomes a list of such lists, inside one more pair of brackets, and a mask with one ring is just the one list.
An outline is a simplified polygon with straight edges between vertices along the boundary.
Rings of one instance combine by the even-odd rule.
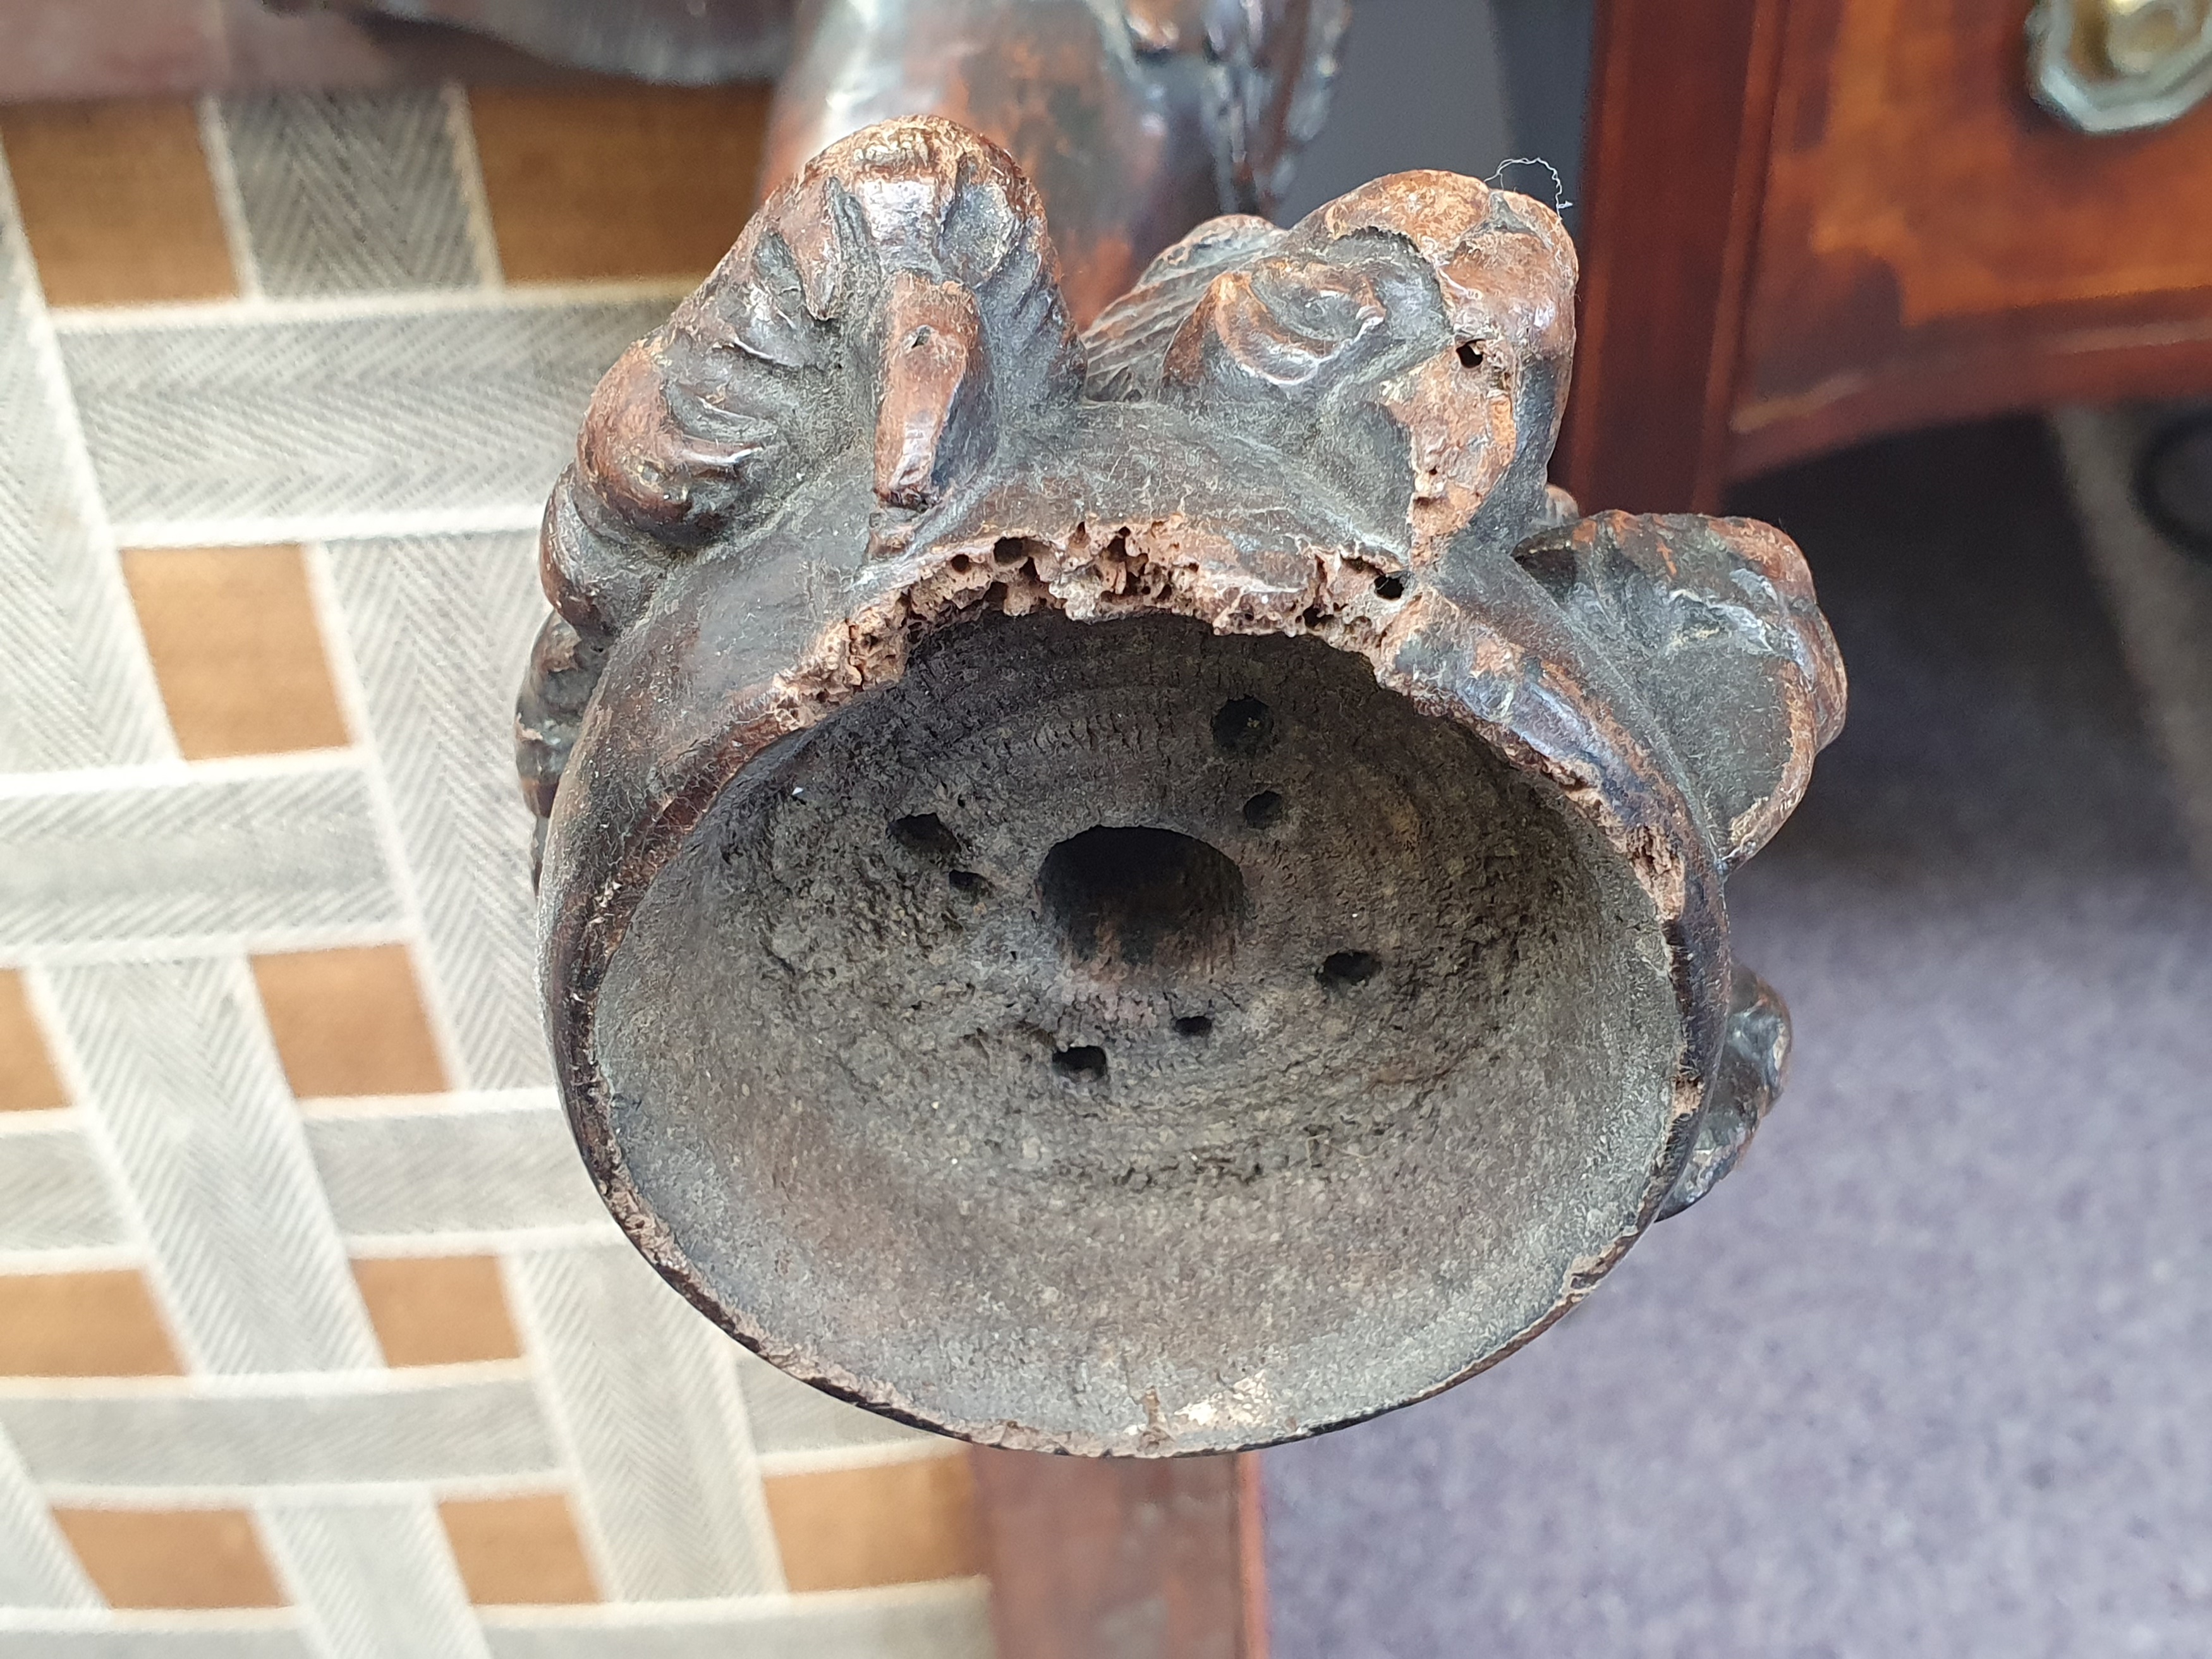
[[2212, 900], [2057, 456], [1743, 509], [1851, 666], [1734, 883], [1790, 1093], [1528, 1352], [1267, 1453], [1276, 1659], [2212, 1652]]

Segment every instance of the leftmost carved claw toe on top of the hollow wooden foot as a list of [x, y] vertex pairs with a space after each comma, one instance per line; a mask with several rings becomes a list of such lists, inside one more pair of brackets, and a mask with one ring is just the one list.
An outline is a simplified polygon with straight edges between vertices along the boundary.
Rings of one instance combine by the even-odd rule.
[[[883, 509], [922, 511], [993, 451], [1000, 387], [1026, 409], [1082, 387], [1029, 179], [949, 122], [834, 144], [599, 380], [540, 531], [546, 599], [604, 646], [672, 568], [761, 531], [856, 447]], [[544, 714], [540, 672], [522, 703]], [[540, 714], [526, 768], [549, 812], [568, 739]]]

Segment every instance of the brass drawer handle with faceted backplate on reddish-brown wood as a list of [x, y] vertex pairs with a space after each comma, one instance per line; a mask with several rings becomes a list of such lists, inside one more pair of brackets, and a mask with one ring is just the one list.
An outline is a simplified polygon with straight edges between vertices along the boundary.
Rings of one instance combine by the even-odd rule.
[[2028, 88], [2084, 133], [2166, 126], [2212, 93], [2212, 0], [2037, 0]]

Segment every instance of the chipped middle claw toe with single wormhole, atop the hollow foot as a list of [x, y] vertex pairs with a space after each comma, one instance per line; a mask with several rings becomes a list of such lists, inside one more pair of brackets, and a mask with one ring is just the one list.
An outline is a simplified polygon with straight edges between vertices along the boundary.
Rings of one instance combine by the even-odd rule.
[[1290, 230], [1199, 226], [1093, 325], [1091, 392], [1159, 398], [1307, 460], [1431, 564], [1544, 507], [1573, 292], [1548, 208], [1405, 173]]

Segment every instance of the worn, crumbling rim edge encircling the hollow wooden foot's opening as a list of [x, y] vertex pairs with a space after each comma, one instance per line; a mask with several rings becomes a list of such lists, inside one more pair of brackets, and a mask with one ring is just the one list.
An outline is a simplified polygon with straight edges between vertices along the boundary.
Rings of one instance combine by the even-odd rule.
[[[975, 571], [982, 571], [982, 575], [973, 577], [969, 586], [982, 586], [984, 582], [1009, 586], [1022, 611], [1042, 608], [1068, 615], [1091, 611], [1091, 606], [1084, 604], [1068, 604], [1071, 591], [1084, 593], [1102, 577], [1110, 582], [1108, 573], [1099, 571], [1084, 555], [1086, 546], [1097, 546], [1097, 540], [1088, 535], [1088, 522], [1079, 522], [1075, 526], [1071, 546], [1060, 549], [1060, 553], [1068, 560], [1068, 568], [1053, 568], [1051, 577], [1035, 571], [1040, 555], [1044, 555], [1046, 564], [1053, 564], [1051, 542], [1035, 535], [1029, 538], [1035, 553], [1029, 555], [1029, 564], [1024, 566], [1029, 575], [1024, 580], [1018, 580], [1020, 573], [1009, 573], [1004, 566], [991, 568], [978, 562], [987, 555], [989, 540], [947, 540], [936, 544], [922, 560], [905, 562], [898, 575], [874, 597], [869, 606], [858, 613], [847, 613], [825, 626], [814, 637], [814, 644], [799, 655], [792, 672], [779, 675], [772, 684], [759, 686], [741, 699], [743, 714], [732, 723], [728, 734], [710, 750], [692, 754], [690, 768], [684, 774], [666, 779], [670, 790], [668, 801], [633, 827], [633, 834], [626, 838], [624, 849], [611, 869], [591, 883], [571, 885], [562, 878], [555, 880], [555, 887], [571, 889], [571, 905], [580, 905], [591, 911], [591, 920], [575, 927], [562, 927], [560, 918], [549, 920], [540, 938], [540, 969], [546, 987], [549, 1022], [553, 1022], [557, 1031], [555, 1053], [564, 1079], [564, 1104], [602, 1201], [630, 1237], [630, 1243], [639, 1250], [639, 1254], [644, 1254], [686, 1301], [690, 1301], [732, 1338], [750, 1347], [754, 1354], [761, 1354], [790, 1376], [796, 1376], [825, 1394], [931, 1433], [969, 1440], [978, 1447], [1066, 1455], [1084, 1462], [1108, 1464], [1206, 1462], [1210, 1458], [1230, 1455], [1232, 1449], [1221, 1444], [1152, 1444], [1148, 1440], [1139, 1440], [1135, 1444], [1108, 1444], [1106, 1440], [1093, 1436], [1037, 1431], [1015, 1422], [947, 1418], [927, 1409], [918, 1400], [907, 1398], [887, 1383], [863, 1378], [834, 1363], [830, 1356], [816, 1352], [812, 1345], [794, 1343], [790, 1336], [779, 1336], [754, 1323], [750, 1314], [726, 1305], [708, 1276], [692, 1263], [684, 1245], [675, 1239], [668, 1223], [661, 1221], [661, 1217], [646, 1201], [635, 1177], [630, 1175], [628, 1159], [624, 1157], [619, 1139], [613, 1133], [611, 1099], [597, 1062], [595, 1002], [599, 978], [613, 962], [613, 956], [635, 918], [635, 909], [650, 889], [655, 876], [681, 845], [684, 836], [690, 834], [699, 816], [714, 799], [719, 799], [730, 779], [763, 754], [774, 741], [794, 732], [812, 730], [863, 690], [880, 688], [900, 679], [905, 675], [905, 650], [898, 648], [896, 641], [905, 637], [902, 619], [920, 615], [931, 633], [942, 626], [960, 626], [971, 613], [967, 606], [953, 602], [953, 595], [962, 586], [949, 575], [953, 560], [967, 557]], [[1141, 531], [1135, 531], [1135, 526], [1121, 526], [1113, 542], [1126, 542], [1139, 560], [1146, 555], [1146, 538]], [[1108, 542], [1108, 546], [1113, 542]], [[1312, 606], [1329, 606], [1334, 611], [1336, 604], [1343, 604], [1345, 586], [1352, 591], [1363, 591], [1367, 586], [1365, 582], [1345, 584], [1340, 580], [1332, 580], [1340, 577], [1345, 568], [1358, 571], [1360, 575], [1367, 573], [1365, 560], [1349, 549], [1316, 553], [1316, 582], [1285, 606], [1287, 615], [1301, 615]], [[1332, 588], [1336, 588], [1336, 593], [1332, 593]], [[1102, 606], [1084, 619], [1117, 613], [1124, 617], [1183, 615], [1208, 622], [1221, 630], [1225, 619], [1217, 608], [1203, 602], [1210, 595], [1203, 582], [1197, 588], [1177, 588], [1170, 582], [1164, 593], [1146, 595], [1124, 611]], [[1431, 597], [1440, 604], [1451, 604], [1449, 599], [1442, 599], [1442, 595], [1420, 595], [1422, 602], [1409, 604], [1407, 611], [1398, 615], [1394, 626], [1380, 630], [1363, 626], [1365, 619], [1358, 617], [1356, 611], [1347, 617], [1352, 626], [1340, 626], [1336, 617], [1329, 617], [1329, 622], [1338, 622], [1338, 626], [1316, 628], [1303, 622], [1292, 624], [1285, 617], [1281, 628], [1261, 630], [1281, 630], [1290, 637], [1318, 637], [1336, 650], [1367, 659], [1369, 668], [1376, 672], [1378, 686], [1413, 699], [1433, 717], [1460, 726], [1498, 752], [1509, 765], [1537, 779], [1544, 787], [1555, 790], [1557, 807], [1568, 816], [1582, 818], [1613, 847], [1615, 856], [1624, 860], [1637, 885], [1644, 887], [1655, 907], [1655, 916], [1661, 927], [1670, 931], [1670, 936], [1679, 931], [1683, 940], [1688, 940], [1690, 936], [1701, 936], [1703, 929], [1712, 929], [1714, 938], [1725, 940], [1723, 869], [1717, 854], [1705, 845], [1701, 832], [1697, 830], [1692, 810], [1681, 790], [1668, 776], [1655, 772], [1639, 776], [1635, 792], [1624, 792], [1615, 799], [1606, 783], [1597, 776], [1582, 774], [1573, 763], [1531, 743], [1513, 726], [1484, 717], [1484, 712], [1469, 701], [1467, 688], [1455, 690], [1425, 679], [1422, 672], [1411, 666], [1418, 661], [1420, 653], [1402, 648], [1425, 630], [1422, 613], [1429, 608], [1427, 599]], [[916, 602], [925, 606], [918, 613], [911, 608]], [[1489, 644], [1502, 648], [1504, 653], [1517, 653], [1504, 635], [1493, 633], [1489, 626], [1482, 626], [1480, 633]], [[876, 650], [872, 650], [867, 641], [874, 641]], [[637, 650], [639, 641], [630, 639], [626, 646]], [[885, 646], [891, 648], [889, 655], [878, 655]], [[1564, 699], [1562, 708], [1568, 703], [1579, 703], [1579, 699]], [[1597, 710], [1582, 708], [1582, 717], [1588, 721], [1584, 730], [1588, 730], [1593, 739], [1599, 732], [1610, 730], [1610, 721]], [[1840, 723], [1840, 710], [1836, 719]], [[1809, 750], [1825, 743], [1829, 737], [1834, 737], [1834, 730], [1814, 734], [1807, 728], [1807, 774], [1812, 763]], [[1655, 757], [1644, 754], [1644, 761], [1652, 763]], [[1792, 792], [1790, 799], [1794, 805], [1796, 794]], [[560, 796], [555, 821], [549, 869], [566, 863], [566, 836], [562, 832], [573, 823], [568, 794]], [[1725, 945], [1721, 947], [1721, 956], [1725, 956]], [[1719, 1044], [1723, 1040], [1721, 1024], [1708, 1026], [1708, 1015], [1712, 1015], [1712, 998], [1705, 987], [1708, 971], [1721, 969], [1717, 969], [1714, 962], [1708, 962], [1701, 949], [1694, 949], [1688, 942], [1670, 947], [1668, 978], [1674, 984], [1677, 1004], [1681, 1009], [1683, 1051], [1672, 1084], [1666, 1148], [1652, 1166], [1637, 1219], [1597, 1254], [1573, 1263], [1562, 1283], [1559, 1301], [1535, 1323], [1526, 1325], [1495, 1349], [1475, 1356], [1462, 1369], [1431, 1383], [1418, 1394], [1394, 1402], [1378, 1402], [1338, 1418], [1301, 1422], [1259, 1440], [1245, 1440], [1239, 1451], [1256, 1451], [1261, 1447], [1310, 1440], [1314, 1436], [1436, 1398], [1438, 1394], [1467, 1383], [1469, 1378], [1524, 1349], [1597, 1287], [1597, 1283], [1621, 1261], [1637, 1239], [1641, 1239], [1644, 1232], [1648, 1232], [1659, 1219], [1659, 1212], [1690, 1157], [1699, 1110], [1705, 1099], [1708, 1082], [1717, 1075]], [[562, 1022], [562, 998], [573, 998], [577, 1004], [593, 1006], [588, 1013], [573, 1015]]]

